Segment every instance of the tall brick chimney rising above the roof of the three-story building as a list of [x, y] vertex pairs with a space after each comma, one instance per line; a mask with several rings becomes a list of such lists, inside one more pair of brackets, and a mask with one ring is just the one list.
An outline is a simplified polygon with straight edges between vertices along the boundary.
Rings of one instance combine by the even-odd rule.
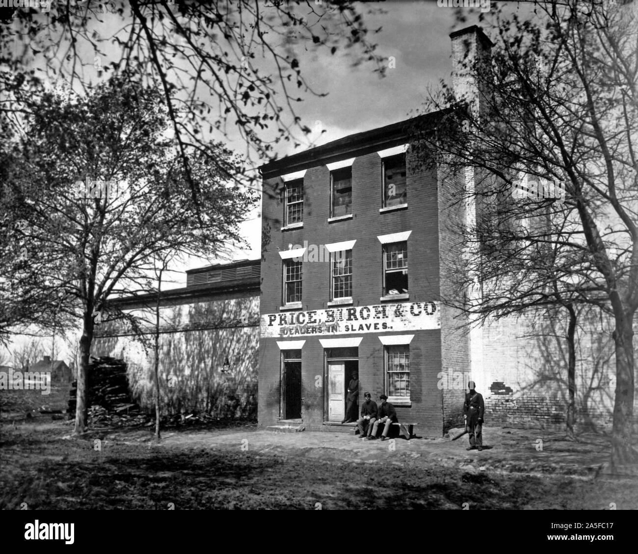
[[[484, 101], [479, 92], [481, 66], [491, 64], [493, 43], [477, 25], [450, 33], [452, 40], [452, 87], [459, 101], [465, 100], [471, 109], [482, 112]], [[478, 77], [478, 78], [477, 78]]]

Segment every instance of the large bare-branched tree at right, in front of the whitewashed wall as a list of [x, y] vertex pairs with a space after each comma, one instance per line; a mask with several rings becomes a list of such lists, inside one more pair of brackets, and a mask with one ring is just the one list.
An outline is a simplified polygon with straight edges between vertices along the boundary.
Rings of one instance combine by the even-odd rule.
[[459, 307], [500, 317], [583, 303], [614, 321], [611, 463], [625, 464], [635, 459], [635, 3], [526, 4], [533, 18], [500, 8], [488, 15], [496, 47], [463, 64], [473, 94], [457, 98], [443, 85], [427, 110], [456, 110], [420, 138], [450, 177], [472, 168], [459, 201], [477, 214], [462, 231], [461, 279], [475, 292]]

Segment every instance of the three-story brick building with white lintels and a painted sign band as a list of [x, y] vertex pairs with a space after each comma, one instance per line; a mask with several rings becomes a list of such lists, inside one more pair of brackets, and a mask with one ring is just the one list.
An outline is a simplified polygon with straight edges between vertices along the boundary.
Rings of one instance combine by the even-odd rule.
[[[470, 27], [452, 34], [453, 51], [486, 40]], [[260, 425], [350, 428], [341, 422], [355, 371], [359, 407], [365, 391], [385, 394], [420, 435], [440, 437], [457, 417], [464, 384], [441, 386], [441, 372], [469, 374], [470, 339], [438, 300], [445, 258], [461, 255], [466, 176], [444, 178], [410, 149], [415, 126], [441, 115], [262, 166]]]

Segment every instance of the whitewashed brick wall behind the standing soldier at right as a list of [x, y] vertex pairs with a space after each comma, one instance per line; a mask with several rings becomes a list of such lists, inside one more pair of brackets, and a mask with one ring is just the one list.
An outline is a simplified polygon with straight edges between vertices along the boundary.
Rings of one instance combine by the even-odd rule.
[[[560, 411], [566, 414], [567, 345], [563, 338], [566, 325], [567, 319], [561, 318], [559, 311], [553, 317], [508, 317], [484, 326], [484, 379], [477, 390], [489, 395], [489, 387], [498, 381], [512, 390], [514, 398], [551, 399], [547, 402], [554, 407], [561, 405]], [[575, 337], [578, 425], [606, 428], [611, 422], [616, 372], [612, 328], [612, 321], [601, 320], [595, 314], [582, 314], [579, 318]], [[512, 412], [507, 421], [517, 423], [519, 413]], [[539, 422], [547, 421], [545, 407], [537, 415]], [[527, 424], [528, 419], [526, 416], [520, 423]]]

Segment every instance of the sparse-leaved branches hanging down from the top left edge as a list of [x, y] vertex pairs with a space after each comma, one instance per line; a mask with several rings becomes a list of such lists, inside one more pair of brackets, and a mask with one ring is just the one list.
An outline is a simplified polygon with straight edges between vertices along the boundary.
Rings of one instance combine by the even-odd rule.
[[[45, 80], [84, 92], [105, 75], [158, 85], [195, 200], [191, 152], [219, 163], [209, 156], [207, 133], [219, 139], [239, 129], [246, 155], [260, 159], [310, 133], [295, 106], [306, 94], [325, 92], [309, 86], [297, 50], [370, 61], [382, 75], [385, 69], [351, 0], [87, 0], [53, 7], [15, 8], [2, 18], [0, 63], [10, 71], [0, 72], [0, 89], [9, 119], [19, 126], [20, 93], [33, 94]], [[233, 176], [256, 178], [239, 170]]]

